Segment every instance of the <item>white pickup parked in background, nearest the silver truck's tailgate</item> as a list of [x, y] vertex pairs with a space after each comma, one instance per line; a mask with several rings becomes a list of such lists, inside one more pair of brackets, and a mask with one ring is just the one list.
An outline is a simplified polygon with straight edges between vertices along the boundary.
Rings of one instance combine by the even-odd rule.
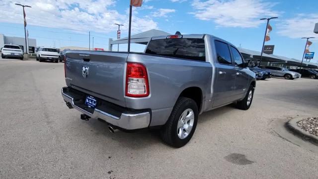
[[59, 62], [59, 56], [58, 50], [55, 48], [45, 48], [41, 47], [36, 52], [36, 60], [39, 62], [49, 60], [51, 62], [58, 63]]

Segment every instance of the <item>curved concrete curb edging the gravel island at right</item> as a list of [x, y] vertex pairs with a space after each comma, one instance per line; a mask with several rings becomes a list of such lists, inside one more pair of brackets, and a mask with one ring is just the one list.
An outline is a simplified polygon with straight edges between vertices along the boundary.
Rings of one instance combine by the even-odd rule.
[[295, 135], [298, 135], [299, 137], [301, 137], [303, 140], [309, 141], [311, 143], [318, 145], [318, 137], [317, 136], [304, 131], [303, 129], [298, 127], [298, 125], [296, 124], [298, 121], [300, 121], [302, 119], [303, 119], [303, 117], [295, 117], [295, 118], [289, 120], [288, 122], [286, 122], [285, 127], [289, 131], [294, 133]]

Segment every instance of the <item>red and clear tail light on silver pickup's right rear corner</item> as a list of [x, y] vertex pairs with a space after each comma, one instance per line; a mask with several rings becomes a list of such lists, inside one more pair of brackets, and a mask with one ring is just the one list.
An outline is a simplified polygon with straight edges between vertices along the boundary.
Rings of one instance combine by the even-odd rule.
[[149, 95], [147, 69], [140, 63], [127, 63], [126, 96], [146, 97]]

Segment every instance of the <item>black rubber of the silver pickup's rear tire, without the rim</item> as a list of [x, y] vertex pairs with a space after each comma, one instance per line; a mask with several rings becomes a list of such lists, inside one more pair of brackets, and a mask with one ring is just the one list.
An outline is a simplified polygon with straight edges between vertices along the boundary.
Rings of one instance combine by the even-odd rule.
[[[184, 139], [181, 139], [178, 137], [177, 127], [181, 114], [187, 109], [192, 109], [194, 114], [194, 121], [190, 133]], [[187, 144], [192, 138], [195, 128], [197, 126], [198, 114], [198, 106], [193, 99], [187, 97], [180, 97], [175, 103], [168, 121], [161, 128], [160, 134], [162, 140], [168, 145], [175, 148], [180, 148]]]

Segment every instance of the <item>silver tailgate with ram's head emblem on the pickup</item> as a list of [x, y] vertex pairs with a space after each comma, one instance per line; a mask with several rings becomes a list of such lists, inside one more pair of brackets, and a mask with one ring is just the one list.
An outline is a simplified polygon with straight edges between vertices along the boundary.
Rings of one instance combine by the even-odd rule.
[[65, 64], [66, 84], [125, 107], [127, 56], [127, 53], [116, 52], [68, 51]]

